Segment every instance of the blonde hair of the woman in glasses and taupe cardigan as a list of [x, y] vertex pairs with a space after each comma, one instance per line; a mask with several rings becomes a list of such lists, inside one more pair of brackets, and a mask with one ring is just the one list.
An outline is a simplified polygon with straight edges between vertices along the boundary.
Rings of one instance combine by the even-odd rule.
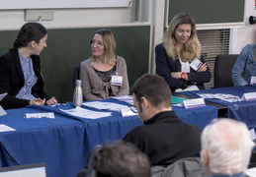
[[[114, 37], [114, 34], [109, 29], [99, 29], [92, 35], [91, 39], [93, 39], [93, 37], [96, 33], [101, 34], [102, 38], [103, 38], [103, 43], [104, 43], [104, 47], [105, 47], [105, 54], [104, 54], [105, 62], [111, 66], [116, 65], [116, 62], [117, 62], [116, 46], [117, 46], [117, 44], [116, 44], [116, 39]], [[96, 57], [92, 56], [91, 60], [95, 61]]]

